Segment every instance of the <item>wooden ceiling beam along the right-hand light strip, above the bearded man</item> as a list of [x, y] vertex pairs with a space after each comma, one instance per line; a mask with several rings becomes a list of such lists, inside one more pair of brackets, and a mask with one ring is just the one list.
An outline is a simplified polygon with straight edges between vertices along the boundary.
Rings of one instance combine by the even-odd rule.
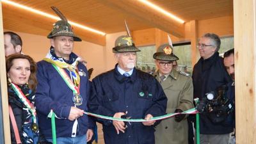
[[137, 0], [99, 0], [99, 2], [115, 8], [125, 15], [141, 20], [150, 26], [166, 31], [166, 33], [171, 33], [179, 38], [184, 37], [184, 24], [180, 24], [170, 19], [170, 17], [152, 10], [152, 8]]

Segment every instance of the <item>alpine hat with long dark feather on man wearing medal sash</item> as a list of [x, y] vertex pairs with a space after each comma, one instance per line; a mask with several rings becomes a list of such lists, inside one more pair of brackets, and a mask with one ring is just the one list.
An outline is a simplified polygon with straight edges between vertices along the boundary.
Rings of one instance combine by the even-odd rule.
[[52, 28], [51, 33], [47, 36], [47, 38], [53, 38], [55, 36], [71, 36], [74, 38], [74, 41], [81, 42], [81, 38], [76, 36], [72, 30], [72, 26], [68, 24], [68, 20], [66, 17], [56, 8], [55, 6], [51, 6], [52, 10], [60, 17], [61, 20], [55, 22]]

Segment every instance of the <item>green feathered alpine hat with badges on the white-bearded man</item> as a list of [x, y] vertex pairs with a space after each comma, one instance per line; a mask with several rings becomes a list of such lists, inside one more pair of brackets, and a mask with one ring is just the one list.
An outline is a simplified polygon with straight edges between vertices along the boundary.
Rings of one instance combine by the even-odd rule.
[[115, 41], [115, 47], [113, 47], [113, 53], [119, 53], [119, 52], [138, 52], [140, 49], [138, 49], [132, 40], [131, 32], [129, 31], [129, 28], [127, 26], [127, 23], [125, 21], [125, 29], [127, 32], [127, 35], [119, 36]]

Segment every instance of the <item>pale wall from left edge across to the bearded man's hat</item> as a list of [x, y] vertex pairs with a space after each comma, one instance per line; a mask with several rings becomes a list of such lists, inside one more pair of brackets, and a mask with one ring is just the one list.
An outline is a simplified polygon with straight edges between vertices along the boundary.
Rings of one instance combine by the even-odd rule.
[[[4, 29], [4, 31], [9, 31]], [[22, 52], [31, 56], [35, 61], [42, 60], [51, 46], [46, 36], [32, 35], [14, 31], [22, 38]], [[118, 36], [126, 35], [125, 32], [111, 33], [106, 35], [106, 46], [93, 44], [91, 42], [75, 42], [74, 52], [87, 61], [87, 68], [93, 68], [92, 78], [111, 70], [115, 67], [116, 60], [112, 52], [115, 40]]]

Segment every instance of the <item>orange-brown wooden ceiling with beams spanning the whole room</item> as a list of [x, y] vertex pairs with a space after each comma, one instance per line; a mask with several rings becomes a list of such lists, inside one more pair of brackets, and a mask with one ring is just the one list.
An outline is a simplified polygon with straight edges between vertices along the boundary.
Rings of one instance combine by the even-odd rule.
[[[159, 28], [175, 36], [184, 35], [184, 24], [155, 12], [137, 0], [12, 0], [42, 12], [56, 15], [51, 6], [56, 6], [68, 20], [83, 24], [105, 33], [125, 31], [124, 19], [131, 31]], [[149, 0], [164, 10], [177, 15], [185, 22], [233, 15], [232, 0]], [[20, 10], [6, 3], [3, 6], [4, 29], [48, 35], [56, 20]], [[105, 36], [74, 27], [76, 35], [83, 40], [105, 45]]]

